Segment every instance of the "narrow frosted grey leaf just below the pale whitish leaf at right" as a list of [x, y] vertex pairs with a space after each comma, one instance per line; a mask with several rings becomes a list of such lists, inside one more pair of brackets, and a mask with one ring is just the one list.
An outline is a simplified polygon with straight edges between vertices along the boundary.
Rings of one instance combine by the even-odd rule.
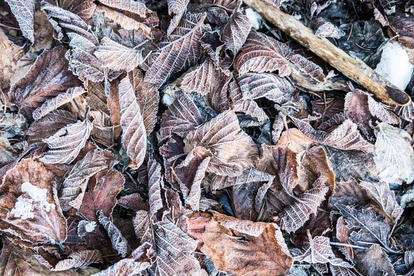
[[393, 221], [400, 219], [404, 209], [395, 200], [395, 194], [390, 190], [387, 183], [362, 181], [360, 185], [366, 190], [368, 197], [373, 199], [382, 208], [385, 215], [393, 219]]

